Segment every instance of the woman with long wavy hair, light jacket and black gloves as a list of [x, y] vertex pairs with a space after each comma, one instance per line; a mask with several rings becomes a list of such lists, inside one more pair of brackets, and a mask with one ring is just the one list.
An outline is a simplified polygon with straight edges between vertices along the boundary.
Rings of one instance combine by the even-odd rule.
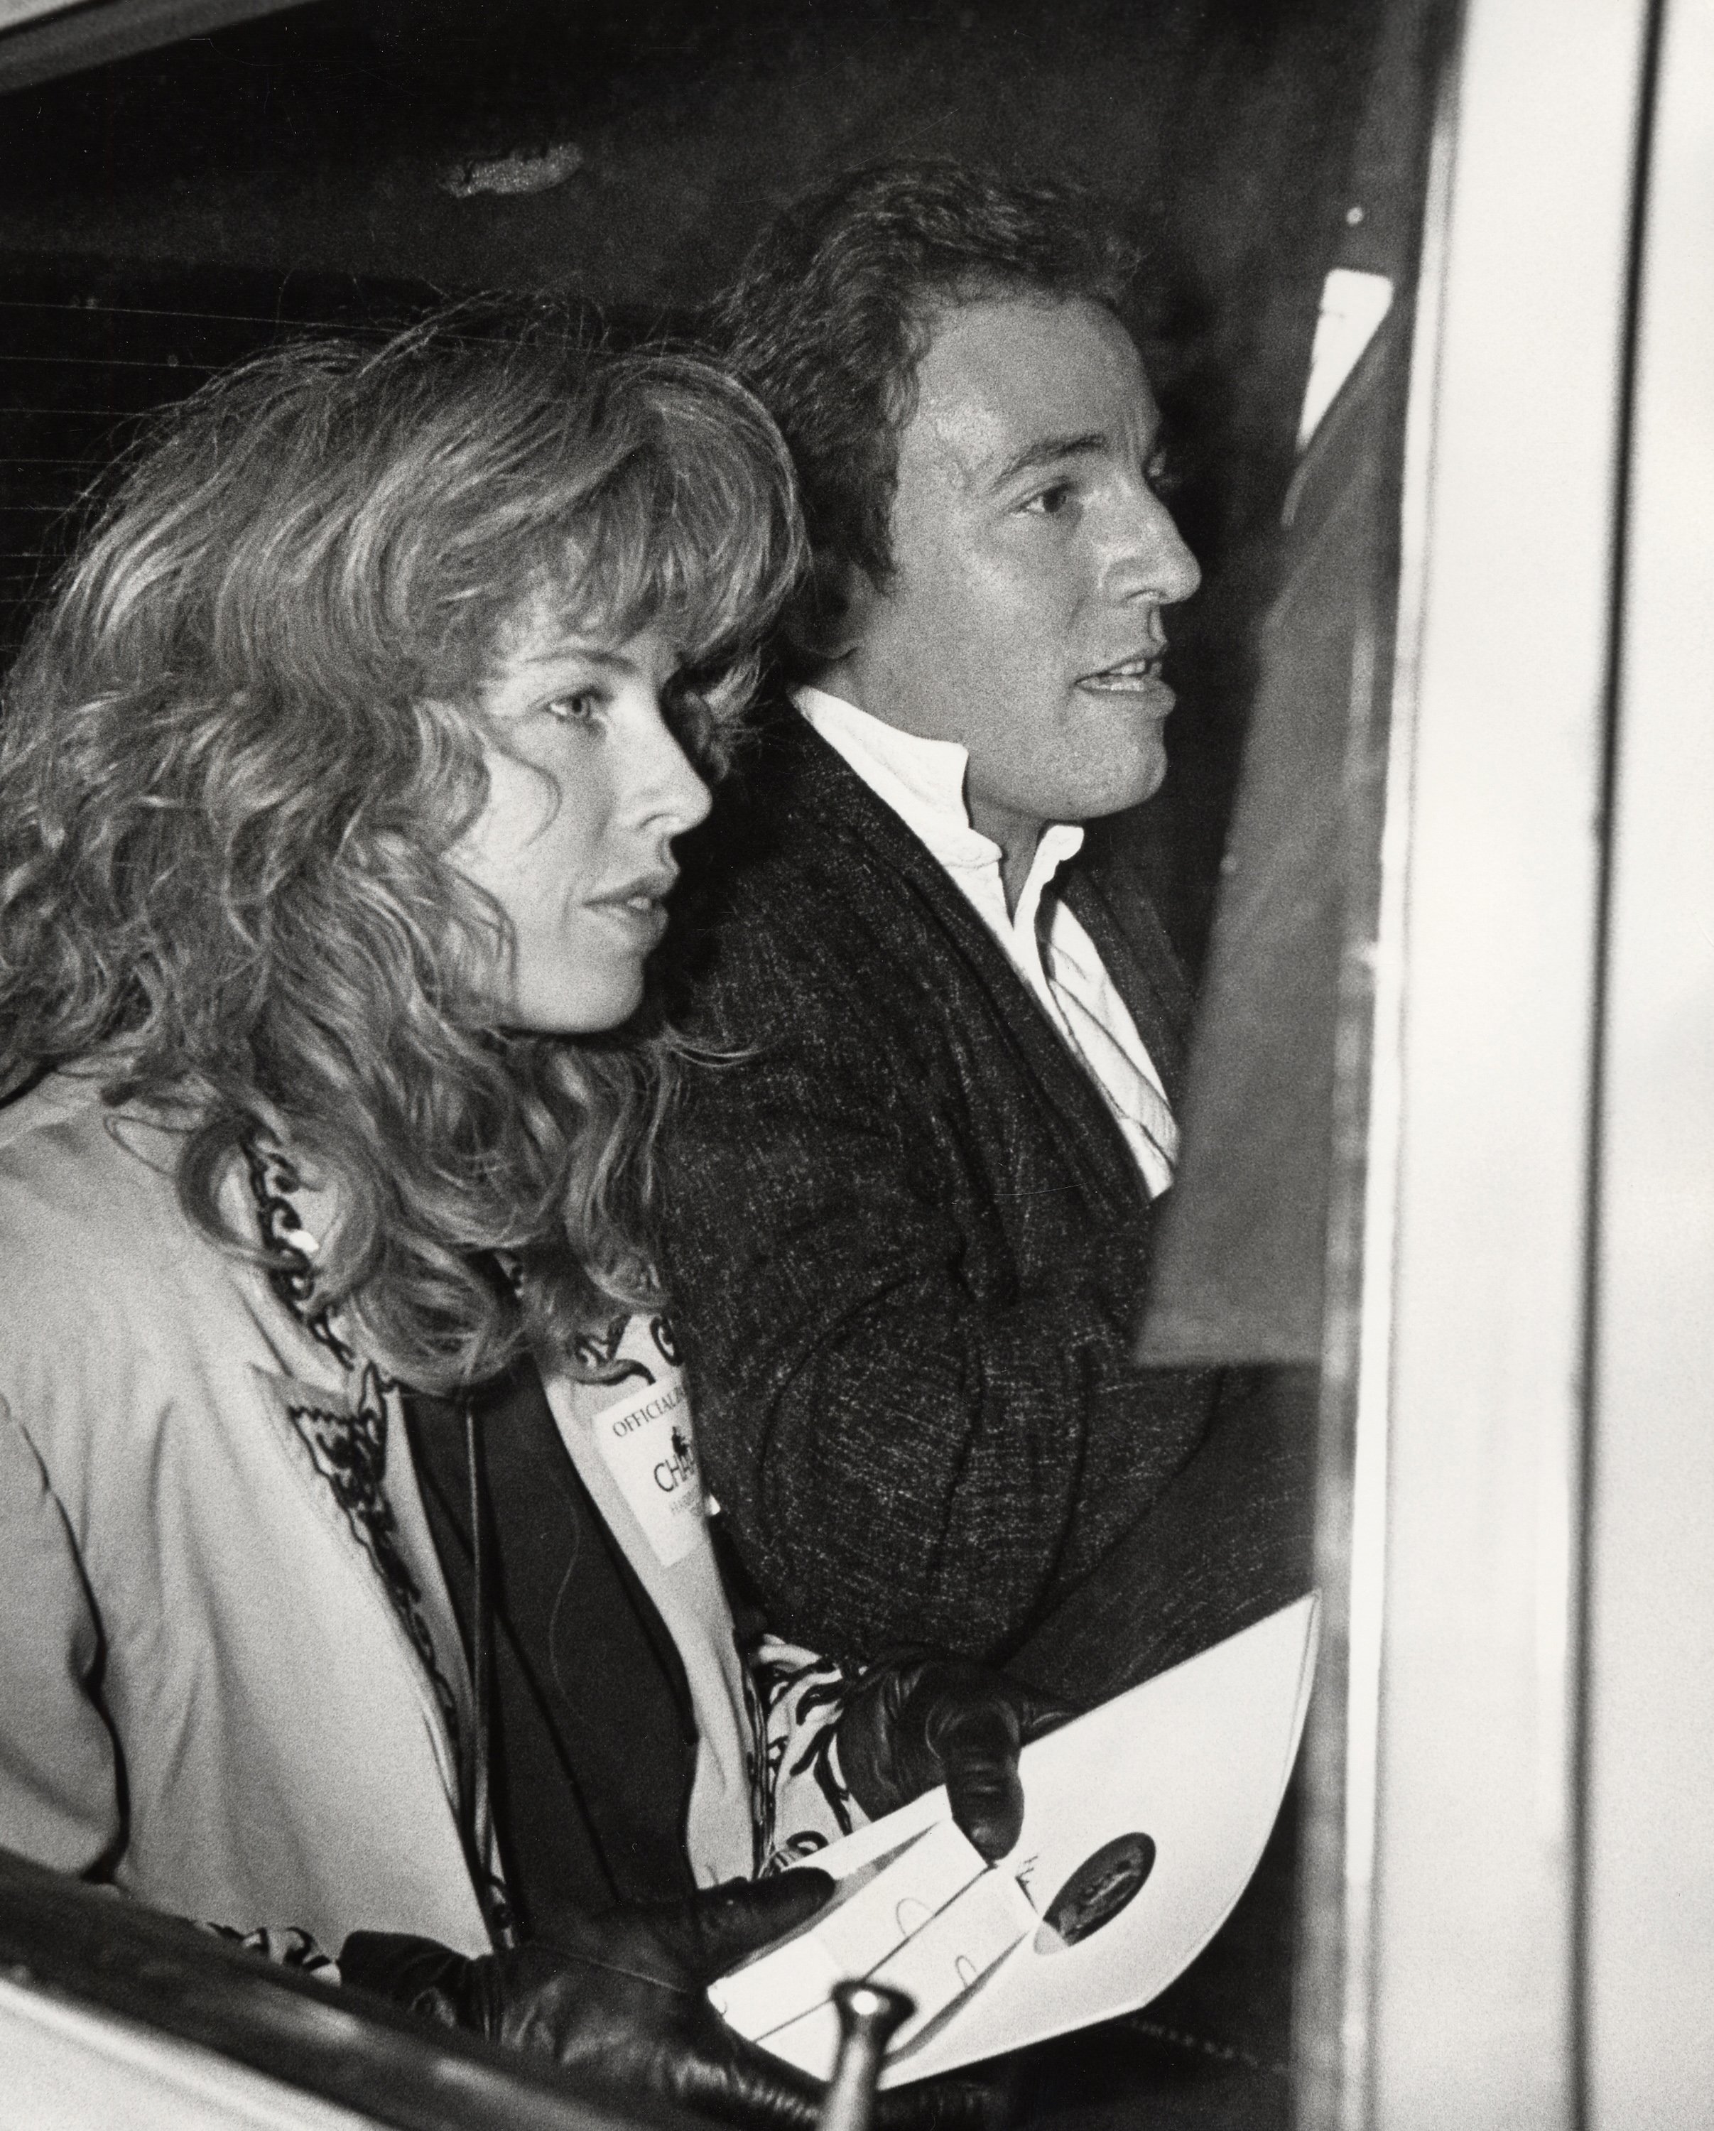
[[[471, 315], [288, 349], [130, 467], [0, 737], [0, 1841], [765, 2120], [806, 2088], [697, 1984], [823, 1875], [550, 1888], [520, 1941], [473, 1387], [546, 1379], [672, 1634], [695, 1884], [748, 1873], [706, 1526], [648, 1526], [614, 1438], [654, 1406], [693, 1500], [646, 1232], [674, 1053], [605, 1031], [797, 556], [778, 437], [697, 360]], [[448, 1428], [458, 1605], [411, 1453]], [[866, 1803], [947, 1773], [929, 1730], [1010, 1801], [1004, 1694], [915, 1664], [853, 1707]]]

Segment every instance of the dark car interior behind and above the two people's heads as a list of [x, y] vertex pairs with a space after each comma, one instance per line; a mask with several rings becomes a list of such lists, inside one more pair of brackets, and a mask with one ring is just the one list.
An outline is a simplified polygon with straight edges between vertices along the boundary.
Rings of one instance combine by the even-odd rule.
[[[693, 322], [834, 168], [957, 153], [1100, 185], [1151, 249], [1136, 328], [1207, 586], [1175, 622], [1166, 795], [1111, 831], [1200, 944], [1364, 0], [320, 0], [0, 100], [0, 650], [128, 418], [277, 322], [563, 286]], [[559, 149], [529, 194], [473, 162]]]

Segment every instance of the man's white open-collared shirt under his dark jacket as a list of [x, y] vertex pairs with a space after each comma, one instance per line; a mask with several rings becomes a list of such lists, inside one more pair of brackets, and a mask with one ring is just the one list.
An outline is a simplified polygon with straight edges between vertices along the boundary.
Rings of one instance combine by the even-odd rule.
[[[1006, 908], [1004, 852], [970, 825], [964, 774], [970, 754], [955, 739], [923, 739], [870, 716], [825, 688], [799, 688], [797, 707], [816, 733], [885, 801], [957, 882], [1040, 1002], [1066, 1048], [1085, 1068], [1136, 1157], [1151, 1198], [1173, 1183], [1179, 1127], [1130, 1008], [1106, 974], [1096, 942], [1062, 899], [1038, 931], [1042, 895], [1083, 848], [1077, 823], [1042, 829], [1017, 910]], [[1047, 955], [1042, 955], [1047, 946]]]

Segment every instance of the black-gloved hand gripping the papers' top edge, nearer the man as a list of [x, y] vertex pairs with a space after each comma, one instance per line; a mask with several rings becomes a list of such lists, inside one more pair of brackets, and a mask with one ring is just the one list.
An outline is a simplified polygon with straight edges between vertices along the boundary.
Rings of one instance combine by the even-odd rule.
[[993, 1862], [1023, 1828], [1019, 1747], [1072, 1713], [987, 1664], [898, 1649], [846, 1701], [840, 1764], [870, 1820], [944, 1784], [953, 1820]]

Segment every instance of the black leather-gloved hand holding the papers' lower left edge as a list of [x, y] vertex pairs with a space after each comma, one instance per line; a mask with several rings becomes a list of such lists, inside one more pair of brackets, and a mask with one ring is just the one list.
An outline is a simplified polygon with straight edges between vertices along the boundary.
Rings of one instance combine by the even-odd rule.
[[[812, 2131], [823, 2088], [759, 2050], [708, 2003], [706, 1986], [827, 1901], [825, 1871], [729, 1880], [680, 1903], [556, 1914], [499, 1954], [354, 1931], [339, 1973], [360, 1990], [490, 2041], [552, 2056], [631, 2093], [706, 2110], [744, 2131]], [[976, 2131], [991, 2097], [927, 2082], [880, 2097], [878, 2131]]]

